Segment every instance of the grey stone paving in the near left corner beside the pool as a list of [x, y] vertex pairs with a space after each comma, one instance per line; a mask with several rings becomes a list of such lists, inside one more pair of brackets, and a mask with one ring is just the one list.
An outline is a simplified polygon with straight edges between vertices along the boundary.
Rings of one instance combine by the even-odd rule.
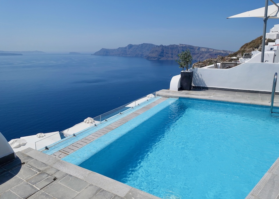
[[0, 199], [158, 198], [31, 148], [16, 154], [0, 165]]

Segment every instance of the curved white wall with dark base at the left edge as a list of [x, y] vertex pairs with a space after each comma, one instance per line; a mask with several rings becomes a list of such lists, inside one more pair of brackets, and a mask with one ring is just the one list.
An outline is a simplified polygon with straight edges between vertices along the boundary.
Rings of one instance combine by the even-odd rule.
[[[13, 154], [13, 155], [11, 155]], [[9, 157], [11, 158], [9, 158]], [[14, 151], [12, 150], [12, 147], [10, 146], [10, 144], [8, 143], [8, 141], [6, 140], [6, 138], [2, 135], [2, 133], [0, 132], [0, 164], [3, 164], [4, 160], [12, 160], [16, 157]]]

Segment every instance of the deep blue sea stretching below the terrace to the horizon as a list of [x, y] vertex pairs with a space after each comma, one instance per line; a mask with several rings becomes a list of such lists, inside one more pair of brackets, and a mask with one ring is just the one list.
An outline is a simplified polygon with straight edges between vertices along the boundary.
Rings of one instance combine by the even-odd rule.
[[175, 61], [139, 57], [0, 56], [0, 132], [9, 141], [62, 131], [167, 89], [179, 73]]

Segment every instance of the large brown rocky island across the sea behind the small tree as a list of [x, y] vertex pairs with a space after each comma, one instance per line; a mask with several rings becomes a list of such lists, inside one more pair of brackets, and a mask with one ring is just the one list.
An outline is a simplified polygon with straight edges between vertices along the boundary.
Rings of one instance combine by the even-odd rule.
[[93, 55], [102, 56], [124, 56], [124, 57], [144, 57], [149, 60], [175, 60], [178, 59], [178, 54], [189, 49], [194, 60], [203, 61], [207, 58], [226, 56], [233, 51], [216, 50], [212, 48], [191, 46], [187, 44], [173, 44], [169, 46], [157, 46], [155, 44], [129, 44], [126, 47], [119, 47], [117, 49], [102, 48]]

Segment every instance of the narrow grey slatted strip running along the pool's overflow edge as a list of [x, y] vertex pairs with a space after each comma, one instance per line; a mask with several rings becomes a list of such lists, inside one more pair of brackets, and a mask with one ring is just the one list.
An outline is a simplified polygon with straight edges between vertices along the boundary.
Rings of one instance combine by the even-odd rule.
[[61, 149], [60, 151], [57, 151], [56, 153], [53, 153], [52, 156], [56, 157], [58, 159], [64, 158], [65, 156], [69, 155], [70, 153], [73, 153], [74, 151], [80, 149], [81, 147], [85, 146], [86, 144], [89, 144], [90, 142], [96, 140], [97, 138], [101, 137], [102, 135], [105, 135], [106, 133], [116, 129], [117, 127], [121, 126], [122, 124], [125, 124], [126, 122], [132, 120], [133, 118], [137, 117], [138, 115], [144, 113], [145, 111], [148, 111], [150, 108], [160, 104], [161, 102], [167, 100], [167, 97], [162, 97], [159, 100], [156, 100], [155, 102], [152, 102], [151, 104], [144, 106], [140, 108], [137, 111], [134, 111], [133, 113], [119, 119], [118, 121], [105, 126], [104, 128], [92, 133], [91, 135], [75, 142], [74, 144], [71, 144], [64, 149]]

